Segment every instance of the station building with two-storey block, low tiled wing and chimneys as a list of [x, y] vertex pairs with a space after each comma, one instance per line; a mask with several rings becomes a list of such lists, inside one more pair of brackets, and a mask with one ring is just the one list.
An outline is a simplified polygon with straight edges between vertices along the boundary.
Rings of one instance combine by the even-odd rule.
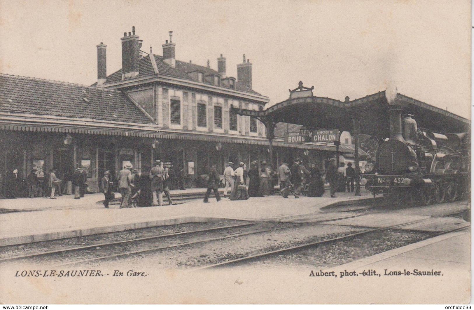
[[[14, 169], [23, 180], [33, 169], [41, 178], [55, 168], [67, 180], [84, 166], [89, 190], [97, 191], [105, 170], [117, 175], [127, 162], [142, 169], [161, 159], [165, 169], [191, 179], [190, 186], [202, 186], [199, 176], [210, 163], [222, 172], [228, 161], [268, 160], [264, 124], [230, 109], [258, 111], [269, 102], [252, 89], [252, 63], [245, 55], [234, 78], [227, 76], [222, 54], [217, 70], [209, 61], [200, 66], [175, 59], [172, 32], [163, 56], [151, 48], [143, 52], [135, 29], [121, 43], [122, 69], [110, 75], [107, 46], [97, 45], [98, 80], [92, 86], [0, 75], [2, 184]], [[298, 157], [310, 166], [334, 156], [330, 143], [284, 143], [284, 134], [295, 130], [299, 126], [277, 124], [273, 164]], [[353, 145], [341, 142], [341, 154], [354, 153]]]

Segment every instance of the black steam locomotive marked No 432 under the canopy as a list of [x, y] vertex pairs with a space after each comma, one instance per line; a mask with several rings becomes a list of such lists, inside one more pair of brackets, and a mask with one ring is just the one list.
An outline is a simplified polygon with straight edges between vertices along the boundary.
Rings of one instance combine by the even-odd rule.
[[413, 115], [390, 107], [390, 138], [365, 165], [361, 185], [411, 205], [455, 201], [470, 189], [470, 138], [417, 128]]

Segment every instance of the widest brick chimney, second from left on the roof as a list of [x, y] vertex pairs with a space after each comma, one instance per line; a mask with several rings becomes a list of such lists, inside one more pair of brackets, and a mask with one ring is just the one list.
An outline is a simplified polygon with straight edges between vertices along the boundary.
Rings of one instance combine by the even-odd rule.
[[138, 60], [140, 59], [139, 36], [135, 35], [135, 26], [132, 33], [123, 33], [122, 40], [122, 80], [135, 78], [138, 75]]

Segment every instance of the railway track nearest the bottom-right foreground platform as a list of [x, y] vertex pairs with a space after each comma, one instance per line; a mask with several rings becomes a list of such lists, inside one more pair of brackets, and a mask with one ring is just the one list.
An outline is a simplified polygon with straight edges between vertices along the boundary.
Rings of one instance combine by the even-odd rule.
[[[397, 224], [397, 225], [386, 226], [386, 227], [379, 227], [379, 228], [366, 230], [366, 231], [363, 231], [363, 232], [355, 232], [355, 233], [351, 233], [349, 235], [345, 235], [345, 236], [341, 236], [341, 237], [337, 237], [337, 238], [331, 238], [331, 239], [316, 241], [316, 242], [309, 242], [309, 243], [305, 243], [305, 244], [301, 244], [301, 245], [297, 245], [297, 246], [293, 246], [293, 247], [288, 247], [288, 248], [284, 248], [284, 249], [268, 251], [268, 252], [264, 252], [264, 253], [259, 253], [259, 254], [255, 254], [255, 255], [246, 256], [246, 257], [243, 257], [243, 258], [232, 259], [232, 260], [220, 262], [220, 263], [217, 263], [217, 264], [204, 266], [204, 267], [201, 267], [201, 268], [198, 268], [198, 269], [195, 269], [195, 270], [218, 268], [218, 267], [229, 267], [229, 266], [238, 265], [238, 264], [245, 264], [245, 263], [248, 263], [250, 261], [255, 261], [255, 260], [258, 260], [258, 259], [261, 259], [261, 258], [273, 256], [273, 255], [278, 255], [278, 254], [282, 254], [282, 253], [289, 253], [289, 252], [291, 253], [292, 251], [304, 250], [304, 249], [307, 249], [307, 248], [316, 247], [318, 245], [328, 244], [328, 243], [331, 243], [331, 242], [348, 240], [348, 239], [358, 237], [358, 236], [362, 236], [362, 235], [365, 235], [365, 234], [369, 234], [369, 233], [372, 233], [372, 232], [380, 232], [380, 231], [385, 231], [385, 230], [390, 230], [390, 229], [396, 229], [396, 228], [401, 228], [403, 226], [408, 226], [408, 225], [412, 225], [412, 224], [419, 224], [419, 223], [422, 223], [422, 222], [431, 221], [435, 218], [458, 215], [458, 214], [462, 214], [463, 212], [456, 212], [456, 213], [449, 214], [449, 215], [433, 216], [433, 217], [430, 217], [428, 219], [411, 221], [409, 223]], [[469, 227], [460, 227], [460, 228], [456, 228], [456, 229], [450, 229], [450, 230], [446, 230], [446, 231], [443, 231], [443, 232], [438, 232], [436, 235], [442, 235], [442, 234], [446, 234], [446, 233], [449, 233], [449, 232], [462, 231], [462, 230], [466, 230], [468, 228]]]

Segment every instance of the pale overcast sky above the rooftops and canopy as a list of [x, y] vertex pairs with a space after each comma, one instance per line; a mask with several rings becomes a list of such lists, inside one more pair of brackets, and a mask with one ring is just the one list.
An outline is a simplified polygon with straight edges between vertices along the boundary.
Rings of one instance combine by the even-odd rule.
[[242, 54], [253, 88], [273, 103], [303, 81], [314, 95], [351, 100], [386, 89], [470, 119], [470, 1], [0, 0], [0, 72], [90, 85], [97, 50], [121, 68], [120, 38], [136, 27], [142, 50], [237, 77]]

